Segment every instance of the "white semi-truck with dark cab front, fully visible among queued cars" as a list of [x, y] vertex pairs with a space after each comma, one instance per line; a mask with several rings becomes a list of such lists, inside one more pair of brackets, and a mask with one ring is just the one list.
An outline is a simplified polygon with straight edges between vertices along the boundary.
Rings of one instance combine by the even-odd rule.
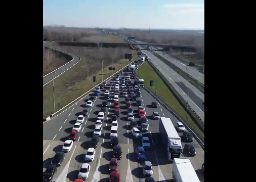
[[162, 143], [167, 150], [168, 160], [172, 161], [174, 158], [181, 158], [183, 151], [181, 138], [170, 118], [160, 117], [159, 132]]

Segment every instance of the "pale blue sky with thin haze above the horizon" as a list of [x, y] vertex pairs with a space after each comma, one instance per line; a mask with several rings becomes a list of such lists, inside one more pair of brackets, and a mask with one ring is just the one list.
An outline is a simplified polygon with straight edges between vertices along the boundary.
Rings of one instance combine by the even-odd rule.
[[204, 0], [43, 0], [43, 25], [204, 29]]

